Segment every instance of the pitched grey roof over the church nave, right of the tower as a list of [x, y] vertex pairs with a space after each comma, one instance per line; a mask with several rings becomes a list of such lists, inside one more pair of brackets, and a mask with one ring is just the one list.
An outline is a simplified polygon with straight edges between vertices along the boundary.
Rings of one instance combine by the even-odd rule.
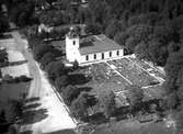
[[115, 49], [122, 49], [123, 47], [110, 40], [103, 34], [81, 38], [80, 41], [80, 53], [81, 55], [102, 53]]

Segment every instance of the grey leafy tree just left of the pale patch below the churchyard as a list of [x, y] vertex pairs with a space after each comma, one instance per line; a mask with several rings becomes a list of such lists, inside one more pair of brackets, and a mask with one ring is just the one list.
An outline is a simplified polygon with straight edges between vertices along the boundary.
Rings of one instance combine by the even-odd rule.
[[99, 102], [103, 109], [104, 115], [106, 119], [112, 116], [112, 113], [115, 110], [115, 94], [113, 91], [103, 91], [99, 96]]

